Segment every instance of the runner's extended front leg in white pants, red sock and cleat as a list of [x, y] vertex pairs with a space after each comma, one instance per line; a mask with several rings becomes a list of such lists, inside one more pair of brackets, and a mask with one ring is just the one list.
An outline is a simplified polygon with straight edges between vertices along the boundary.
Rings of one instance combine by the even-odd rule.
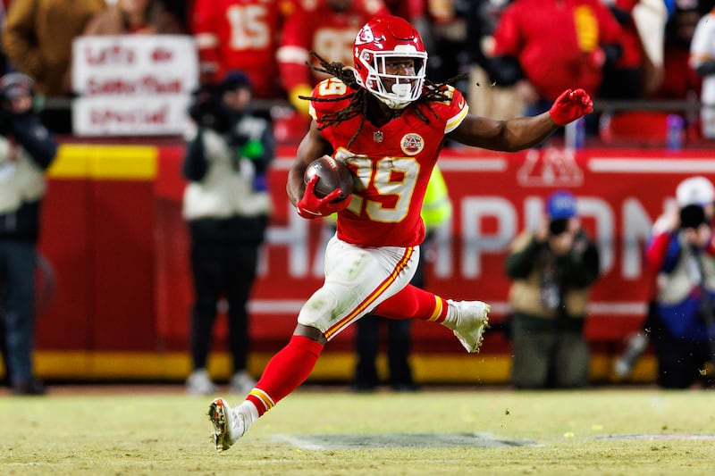
[[418, 254], [415, 248], [361, 248], [333, 237], [325, 249], [324, 285], [303, 305], [288, 345], [266, 364], [243, 403], [231, 409], [223, 398], [216, 398], [209, 407], [216, 449], [231, 447], [261, 415], [298, 388], [328, 340], [406, 286]]

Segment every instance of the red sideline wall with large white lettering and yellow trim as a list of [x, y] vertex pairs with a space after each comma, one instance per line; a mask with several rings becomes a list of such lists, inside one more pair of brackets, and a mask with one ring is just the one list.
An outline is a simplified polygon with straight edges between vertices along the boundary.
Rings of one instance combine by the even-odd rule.
[[[251, 371], [287, 341], [299, 306], [322, 281], [324, 230], [294, 213], [285, 196], [292, 148], [270, 174], [275, 213], [250, 303]], [[189, 372], [191, 302], [187, 233], [181, 219], [181, 144], [67, 144], [50, 171], [40, 250], [55, 270], [55, 296], [40, 313], [38, 372], [56, 379], [176, 380]], [[441, 167], [454, 215], [439, 236], [427, 287], [442, 296], [492, 303], [508, 312], [503, 260], [509, 242], [539, 219], [556, 188], [579, 197], [585, 226], [601, 246], [602, 277], [586, 332], [594, 379], [608, 379], [621, 340], [636, 330], [650, 289], [642, 248], [680, 180], [715, 180], [711, 151], [544, 148], [517, 154], [448, 149]], [[229, 374], [223, 319], [210, 372]], [[415, 325], [413, 362], [423, 382], [502, 382], [509, 343], [492, 332], [467, 355], [449, 330]], [[326, 348], [313, 380], [347, 380], [351, 330]], [[381, 372], [384, 362], [380, 361]], [[635, 379], [652, 379], [652, 361]]]

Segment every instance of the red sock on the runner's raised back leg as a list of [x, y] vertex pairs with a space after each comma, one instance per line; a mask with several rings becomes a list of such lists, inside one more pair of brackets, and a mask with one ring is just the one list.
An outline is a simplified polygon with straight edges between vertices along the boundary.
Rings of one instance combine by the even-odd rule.
[[447, 302], [434, 293], [408, 284], [399, 293], [378, 305], [374, 314], [389, 319], [443, 322], [447, 316]]

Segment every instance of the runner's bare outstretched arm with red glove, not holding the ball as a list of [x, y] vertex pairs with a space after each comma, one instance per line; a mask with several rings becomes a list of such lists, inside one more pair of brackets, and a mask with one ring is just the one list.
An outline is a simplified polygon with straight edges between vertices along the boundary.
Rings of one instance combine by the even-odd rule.
[[447, 137], [467, 146], [515, 152], [542, 143], [560, 126], [592, 112], [591, 96], [583, 89], [567, 89], [546, 113], [509, 121], [467, 115]]

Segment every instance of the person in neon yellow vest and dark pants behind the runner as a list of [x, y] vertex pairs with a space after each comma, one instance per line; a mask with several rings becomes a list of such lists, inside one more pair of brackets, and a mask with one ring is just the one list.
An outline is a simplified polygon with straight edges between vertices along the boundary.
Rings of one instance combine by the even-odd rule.
[[[417, 288], [425, 288], [425, 262], [429, 259], [430, 246], [433, 245], [435, 231], [450, 220], [452, 205], [447, 195], [442, 171], [434, 167], [425, 191], [422, 204], [422, 220], [425, 221], [425, 241], [420, 246], [419, 262], [415, 276], [409, 283]], [[375, 314], [368, 314], [356, 323], [355, 349], [357, 364], [353, 389], [373, 391], [379, 380], [375, 360], [380, 346], [380, 328], [387, 327], [387, 363], [390, 371], [389, 383], [396, 391], [414, 391], [417, 389], [409, 363], [412, 345], [412, 320], [387, 319]]]

